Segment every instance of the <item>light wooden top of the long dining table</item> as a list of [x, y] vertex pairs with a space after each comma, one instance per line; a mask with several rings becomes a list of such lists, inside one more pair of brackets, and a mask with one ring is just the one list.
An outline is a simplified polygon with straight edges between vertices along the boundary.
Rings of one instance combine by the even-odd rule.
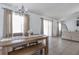
[[20, 43], [21, 44], [28, 43], [46, 38], [48, 38], [48, 36], [46, 35], [15, 36], [15, 37], [2, 38], [0, 40], [0, 47], [13, 46]]

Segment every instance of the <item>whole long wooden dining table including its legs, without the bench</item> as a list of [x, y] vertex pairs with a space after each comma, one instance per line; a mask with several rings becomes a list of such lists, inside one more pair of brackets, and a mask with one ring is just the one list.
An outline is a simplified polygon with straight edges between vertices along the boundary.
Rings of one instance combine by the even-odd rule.
[[[48, 36], [30, 35], [30, 36], [15, 36], [9, 38], [2, 38], [0, 40], [0, 55], [8, 55], [8, 50], [10, 47], [16, 46], [18, 44], [30, 43], [33, 41], [40, 41], [40, 40], [44, 41], [43, 45], [45, 45], [45, 54], [48, 54]], [[26, 48], [26, 50], [27, 49], [28, 48]]]

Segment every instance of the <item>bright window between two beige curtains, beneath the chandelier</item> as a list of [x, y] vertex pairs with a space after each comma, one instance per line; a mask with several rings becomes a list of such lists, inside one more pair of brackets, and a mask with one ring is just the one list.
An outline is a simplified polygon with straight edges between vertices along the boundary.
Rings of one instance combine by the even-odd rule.
[[19, 14], [12, 13], [12, 33], [23, 33], [24, 17]]

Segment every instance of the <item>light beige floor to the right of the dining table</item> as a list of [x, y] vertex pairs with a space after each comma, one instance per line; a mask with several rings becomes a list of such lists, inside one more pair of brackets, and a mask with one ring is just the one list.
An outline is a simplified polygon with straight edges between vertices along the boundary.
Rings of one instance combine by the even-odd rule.
[[49, 37], [49, 55], [79, 55], [79, 42]]

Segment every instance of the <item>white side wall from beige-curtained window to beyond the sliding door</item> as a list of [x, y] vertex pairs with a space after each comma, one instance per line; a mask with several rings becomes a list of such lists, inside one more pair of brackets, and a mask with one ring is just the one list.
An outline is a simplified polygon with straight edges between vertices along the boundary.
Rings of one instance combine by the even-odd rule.
[[[34, 13], [29, 13], [30, 15], [30, 29], [34, 34], [41, 34], [41, 16], [34, 14]], [[53, 20], [53, 36], [57, 36], [57, 21], [55, 19], [51, 18], [44, 18], [48, 20]]]

